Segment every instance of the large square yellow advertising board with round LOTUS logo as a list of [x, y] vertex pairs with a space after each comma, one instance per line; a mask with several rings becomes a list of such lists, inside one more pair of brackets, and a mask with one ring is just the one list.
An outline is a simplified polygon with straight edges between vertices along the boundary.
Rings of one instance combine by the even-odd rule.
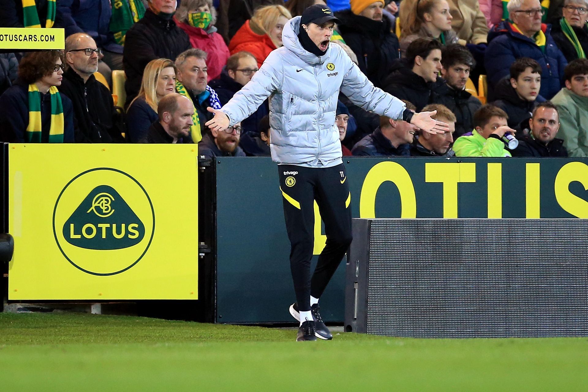
[[198, 299], [195, 145], [9, 146], [9, 300]]

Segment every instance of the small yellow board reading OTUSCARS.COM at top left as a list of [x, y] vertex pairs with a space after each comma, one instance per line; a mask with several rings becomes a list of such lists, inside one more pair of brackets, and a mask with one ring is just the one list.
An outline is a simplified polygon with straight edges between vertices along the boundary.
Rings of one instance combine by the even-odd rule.
[[0, 49], [49, 50], [65, 48], [65, 30], [22, 27], [0, 28]]

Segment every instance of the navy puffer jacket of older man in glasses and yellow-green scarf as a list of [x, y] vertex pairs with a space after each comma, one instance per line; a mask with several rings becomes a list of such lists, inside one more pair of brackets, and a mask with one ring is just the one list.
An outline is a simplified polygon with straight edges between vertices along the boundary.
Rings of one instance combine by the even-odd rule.
[[563, 70], [566, 68], [567, 61], [553, 41], [550, 34], [551, 26], [543, 24], [542, 30], [546, 38], [545, 53], [536, 45], [534, 39], [513, 31], [512, 25], [507, 21], [494, 26], [488, 33], [485, 66], [489, 89], [492, 89], [489, 98], [493, 98], [493, 88], [500, 79], [509, 75], [510, 65], [521, 57], [532, 58], [541, 65], [539, 93], [542, 96], [551, 99], [560, 91], [563, 83]]

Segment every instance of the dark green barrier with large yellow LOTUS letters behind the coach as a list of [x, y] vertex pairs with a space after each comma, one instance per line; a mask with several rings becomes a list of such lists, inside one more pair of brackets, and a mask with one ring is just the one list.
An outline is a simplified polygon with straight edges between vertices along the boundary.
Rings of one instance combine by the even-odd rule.
[[[588, 160], [343, 162], [354, 217], [588, 218]], [[269, 158], [216, 160], [218, 322], [293, 321], [290, 245], [278, 186], [278, 166]], [[315, 226], [318, 254], [324, 236]], [[326, 320], [343, 321], [343, 280], [341, 266], [320, 300]]]

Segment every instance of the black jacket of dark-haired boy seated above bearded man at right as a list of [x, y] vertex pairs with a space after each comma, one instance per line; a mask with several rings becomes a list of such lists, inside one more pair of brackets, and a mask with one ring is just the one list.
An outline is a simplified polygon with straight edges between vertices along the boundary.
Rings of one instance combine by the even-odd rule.
[[519, 130], [520, 123], [530, 119], [535, 105], [539, 102], [545, 102], [545, 98], [537, 95], [535, 100], [525, 100], [519, 98], [516, 90], [510, 85], [510, 78], [503, 78], [496, 85], [496, 100], [493, 105], [498, 106], [509, 115], [508, 125], [510, 128]]

